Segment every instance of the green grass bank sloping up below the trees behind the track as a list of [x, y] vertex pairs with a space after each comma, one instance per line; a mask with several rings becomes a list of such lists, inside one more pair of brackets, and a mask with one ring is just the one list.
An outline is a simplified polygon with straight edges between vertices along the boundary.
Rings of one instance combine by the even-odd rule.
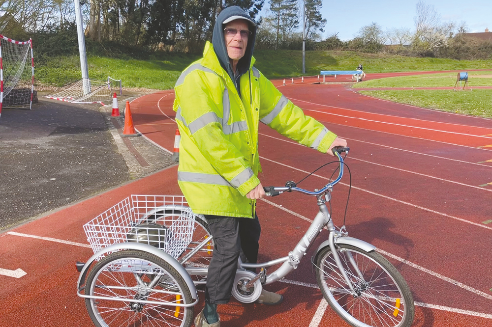
[[[303, 75], [302, 51], [256, 50], [254, 56], [255, 66], [269, 79]], [[164, 53], [156, 54], [148, 60], [126, 60], [89, 55], [89, 77], [98, 80], [106, 80], [108, 76], [121, 79], [126, 88], [170, 89], [184, 68], [200, 57], [199, 54]], [[321, 70], [353, 70], [360, 62], [368, 73], [486, 69], [492, 66], [492, 60], [458, 61], [349, 51], [307, 51], [304, 75], [318, 75]], [[34, 56], [34, 64], [38, 88], [62, 86], [81, 79], [78, 55], [43, 57], [38, 61]]]

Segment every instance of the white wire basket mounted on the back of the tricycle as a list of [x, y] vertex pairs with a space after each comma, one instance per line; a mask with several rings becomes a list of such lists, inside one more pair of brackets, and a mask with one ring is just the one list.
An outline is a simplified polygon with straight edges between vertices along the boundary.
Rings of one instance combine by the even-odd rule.
[[184, 196], [130, 195], [86, 223], [84, 231], [94, 253], [109, 245], [138, 242], [177, 259], [191, 242], [193, 224]]

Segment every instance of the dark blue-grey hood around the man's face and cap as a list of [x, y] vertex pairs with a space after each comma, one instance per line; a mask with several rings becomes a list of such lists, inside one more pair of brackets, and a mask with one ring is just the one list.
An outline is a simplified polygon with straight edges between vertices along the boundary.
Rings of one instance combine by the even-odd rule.
[[[217, 20], [215, 21], [214, 26], [214, 34], [212, 36], [212, 45], [214, 46], [215, 54], [220, 62], [222, 68], [229, 74], [232, 81], [234, 82], [234, 73], [232, 71], [231, 64], [229, 62], [229, 55], [227, 54], [227, 49], [225, 47], [224, 41], [224, 27], [223, 22], [232, 16], [241, 16], [246, 20], [254, 22], [254, 20], [249, 17], [246, 12], [238, 6], [227, 7], [220, 12], [217, 16]], [[237, 69], [239, 75], [243, 75], [249, 69], [249, 65], [251, 64], [251, 57], [253, 55], [254, 49], [254, 40], [256, 39], [256, 24], [248, 22], [249, 30], [251, 31], [251, 35], [249, 35], [246, 52], [245, 55], [239, 59], [237, 64]]]

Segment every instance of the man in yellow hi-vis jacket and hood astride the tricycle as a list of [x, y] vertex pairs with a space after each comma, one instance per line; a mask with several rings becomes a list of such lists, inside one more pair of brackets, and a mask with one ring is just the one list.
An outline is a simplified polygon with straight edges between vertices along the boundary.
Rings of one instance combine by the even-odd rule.
[[[255, 37], [256, 24], [243, 9], [222, 10], [212, 44], [207, 42], [203, 58], [186, 68], [175, 86], [178, 182], [193, 212], [207, 218], [215, 240], [196, 327], [220, 326], [216, 307], [229, 301], [241, 249], [256, 263], [256, 200], [265, 195], [258, 179], [259, 121], [321, 152], [347, 144], [305, 116], [253, 67]], [[257, 302], [282, 300], [263, 290]]]

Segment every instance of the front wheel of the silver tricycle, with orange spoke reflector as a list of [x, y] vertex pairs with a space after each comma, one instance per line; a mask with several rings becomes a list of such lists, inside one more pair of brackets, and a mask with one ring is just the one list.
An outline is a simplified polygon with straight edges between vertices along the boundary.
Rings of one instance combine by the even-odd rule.
[[323, 296], [337, 314], [354, 327], [410, 327], [413, 297], [401, 274], [381, 254], [351, 245], [337, 245], [354, 295], [335, 262], [330, 247], [320, 251], [316, 278]]

